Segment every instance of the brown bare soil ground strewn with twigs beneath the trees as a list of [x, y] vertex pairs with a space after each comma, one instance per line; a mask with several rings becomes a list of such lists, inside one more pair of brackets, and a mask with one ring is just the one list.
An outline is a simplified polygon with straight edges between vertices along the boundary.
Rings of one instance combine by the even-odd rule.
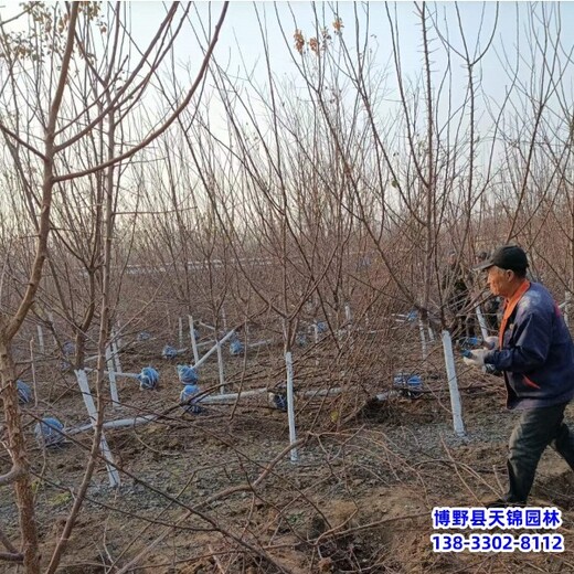
[[[306, 442], [296, 464], [285, 454], [287, 415], [269, 408], [265, 396], [235, 407], [210, 406], [203, 415], [177, 408], [158, 423], [107, 431], [123, 485], [111, 490], [105, 465], [98, 466], [59, 572], [119, 572], [144, 551], [127, 572], [574, 572], [574, 474], [551, 450], [540, 465], [533, 502], [563, 510], [563, 554], [433, 552], [433, 507], [480, 506], [503, 489], [506, 444], [515, 419], [503, 408], [502, 380], [460, 364], [467, 436], [457, 437], [440, 352], [434, 357], [437, 366], [423, 373], [426, 392], [416, 400], [392, 396], [375, 404], [351, 385], [339, 397], [298, 400], [299, 436]], [[280, 361], [263, 359], [256, 358], [266, 365], [261, 378], [275, 383]], [[228, 361], [230, 379], [245, 371], [241, 359]], [[125, 359], [125, 370], [136, 364]], [[167, 364], [160, 366], [158, 392], [121, 382], [124, 406], [109, 408], [107, 417], [173, 406], [181, 385]], [[202, 381], [216, 383], [215, 364]], [[49, 392], [42, 383], [41, 395]], [[87, 422], [71, 375], [51, 395], [56, 412], [50, 414], [66, 427]], [[45, 408], [41, 403], [30, 413]], [[574, 421], [574, 408], [568, 413]], [[44, 560], [62, 531], [89, 445], [85, 433], [62, 447], [32, 450]], [[4, 463], [0, 466], [2, 471]], [[7, 489], [0, 491], [0, 508], [2, 528], [17, 540], [17, 509]], [[0, 572], [18, 568], [4, 564]]]

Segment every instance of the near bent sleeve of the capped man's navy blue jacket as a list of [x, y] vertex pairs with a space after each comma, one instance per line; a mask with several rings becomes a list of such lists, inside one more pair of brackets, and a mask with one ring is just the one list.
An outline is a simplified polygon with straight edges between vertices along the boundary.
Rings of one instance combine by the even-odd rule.
[[514, 323], [517, 332], [511, 349], [490, 351], [485, 362], [498, 371], [528, 373], [546, 361], [552, 337], [552, 313], [531, 310]]

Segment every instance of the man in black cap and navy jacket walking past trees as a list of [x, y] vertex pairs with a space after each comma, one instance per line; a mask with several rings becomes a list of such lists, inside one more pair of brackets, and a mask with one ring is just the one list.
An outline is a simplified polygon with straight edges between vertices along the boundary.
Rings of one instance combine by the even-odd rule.
[[465, 362], [493, 365], [504, 373], [507, 407], [522, 415], [512, 431], [508, 456], [508, 492], [489, 506], [525, 504], [546, 446], [574, 469], [574, 435], [564, 408], [574, 396], [574, 344], [561, 312], [545, 287], [527, 279], [527, 254], [515, 245], [498, 249], [480, 267], [488, 286], [504, 299], [498, 338], [489, 349], [471, 351]]

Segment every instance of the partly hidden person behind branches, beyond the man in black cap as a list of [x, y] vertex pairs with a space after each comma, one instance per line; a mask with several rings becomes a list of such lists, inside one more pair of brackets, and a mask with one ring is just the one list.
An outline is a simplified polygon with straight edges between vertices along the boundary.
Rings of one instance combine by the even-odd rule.
[[448, 264], [443, 275], [443, 291], [446, 305], [455, 317], [453, 338], [475, 337], [475, 319], [468, 307], [470, 305], [470, 276], [457, 262], [456, 252], [448, 254]]

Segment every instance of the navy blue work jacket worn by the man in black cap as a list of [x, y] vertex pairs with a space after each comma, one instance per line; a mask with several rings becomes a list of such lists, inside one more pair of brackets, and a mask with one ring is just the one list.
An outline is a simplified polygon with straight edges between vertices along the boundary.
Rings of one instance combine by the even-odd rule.
[[485, 363], [504, 373], [507, 407], [539, 408], [574, 397], [574, 344], [562, 313], [539, 283], [518, 301], [509, 317], [502, 346]]

